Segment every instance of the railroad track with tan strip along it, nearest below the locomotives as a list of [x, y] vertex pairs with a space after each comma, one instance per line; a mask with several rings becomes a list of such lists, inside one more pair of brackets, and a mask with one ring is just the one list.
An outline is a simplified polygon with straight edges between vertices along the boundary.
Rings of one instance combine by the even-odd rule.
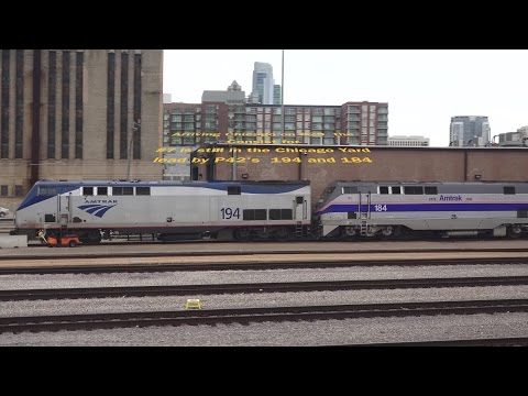
[[[524, 248], [521, 248], [524, 249]], [[367, 252], [120, 252], [75, 255], [0, 256], [0, 275], [7, 274], [91, 274], [152, 273], [216, 270], [279, 270], [358, 266], [435, 266], [528, 263], [528, 251], [367, 251]]]

